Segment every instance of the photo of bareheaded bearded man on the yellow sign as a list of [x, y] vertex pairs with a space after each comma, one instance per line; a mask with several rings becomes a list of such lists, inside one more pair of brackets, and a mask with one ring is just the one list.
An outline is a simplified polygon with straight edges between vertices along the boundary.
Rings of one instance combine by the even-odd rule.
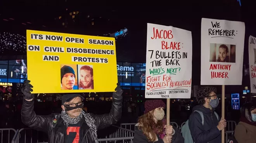
[[94, 89], [92, 65], [78, 65], [79, 89]]

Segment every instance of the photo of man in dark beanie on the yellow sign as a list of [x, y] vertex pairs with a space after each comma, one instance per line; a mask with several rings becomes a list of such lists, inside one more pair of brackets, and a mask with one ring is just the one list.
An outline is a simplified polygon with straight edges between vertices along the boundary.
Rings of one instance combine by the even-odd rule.
[[61, 90], [78, 89], [75, 71], [76, 71], [76, 65], [62, 65]]

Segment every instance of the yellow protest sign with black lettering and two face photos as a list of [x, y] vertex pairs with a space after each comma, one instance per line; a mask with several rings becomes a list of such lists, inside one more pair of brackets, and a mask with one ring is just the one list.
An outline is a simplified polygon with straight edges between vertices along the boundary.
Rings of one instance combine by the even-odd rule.
[[32, 93], [113, 92], [116, 44], [111, 37], [27, 30]]

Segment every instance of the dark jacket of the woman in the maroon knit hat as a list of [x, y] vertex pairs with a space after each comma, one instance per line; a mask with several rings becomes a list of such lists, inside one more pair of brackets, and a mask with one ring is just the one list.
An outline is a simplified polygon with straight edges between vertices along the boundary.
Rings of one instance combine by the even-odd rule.
[[[180, 133], [179, 129], [177, 129], [175, 126], [173, 126], [173, 129], [175, 130], [175, 134], [173, 134], [173, 137], [171, 138], [171, 143], [184, 143], [184, 138], [182, 134]], [[164, 143], [163, 139], [157, 135], [158, 141], [155, 141], [154, 143]], [[147, 140], [147, 136], [143, 134], [141, 130], [136, 127], [133, 143], [152, 143]]]

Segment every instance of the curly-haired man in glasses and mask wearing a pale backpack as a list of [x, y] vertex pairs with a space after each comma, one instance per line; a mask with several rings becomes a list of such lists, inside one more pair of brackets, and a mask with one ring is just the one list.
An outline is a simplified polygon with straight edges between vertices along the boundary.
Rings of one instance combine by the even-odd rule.
[[216, 88], [199, 89], [197, 102], [200, 105], [193, 108], [189, 120], [182, 126], [185, 143], [221, 143], [221, 130], [227, 123], [214, 111], [219, 104]]

